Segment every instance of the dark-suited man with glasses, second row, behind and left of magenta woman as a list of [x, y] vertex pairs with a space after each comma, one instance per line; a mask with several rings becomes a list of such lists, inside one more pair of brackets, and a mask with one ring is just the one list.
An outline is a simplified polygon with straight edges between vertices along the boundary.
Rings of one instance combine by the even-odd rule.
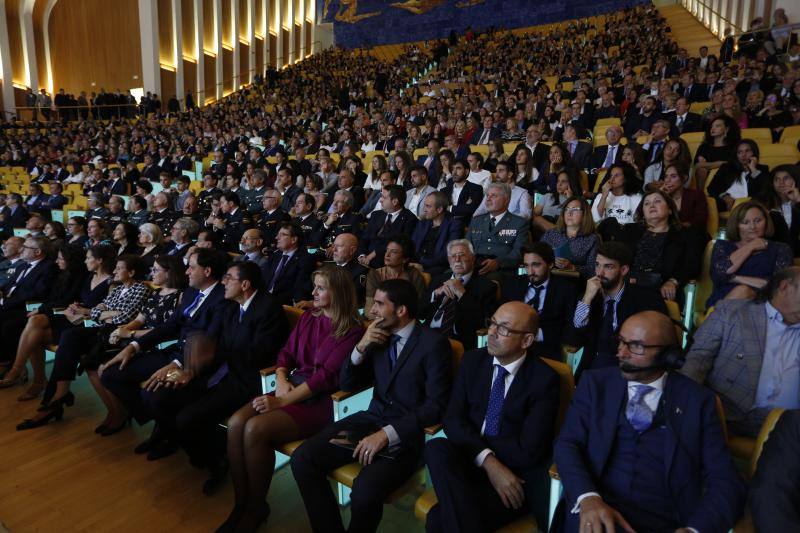
[[300, 228], [290, 222], [282, 224], [276, 249], [261, 268], [267, 292], [284, 305], [308, 300], [315, 266], [314, 258], [306, 252]]

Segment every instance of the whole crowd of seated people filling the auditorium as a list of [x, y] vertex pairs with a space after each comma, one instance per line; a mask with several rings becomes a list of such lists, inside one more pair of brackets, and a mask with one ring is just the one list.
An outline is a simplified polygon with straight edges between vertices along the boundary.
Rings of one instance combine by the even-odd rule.
[[[419, 84], [425, 52], [332, 49], [169, 120], [3, 123], [0, 387], [30, 361], [19, 399], [41, 398], [18, 429], [85, 401], [85, 372], [98, 434], [153, 421], [135, 452], [185, 451], [207, 494], [230, 470], [220, 531], [268, 519], [275, 452], [301, 439], [315, 531], [343, 530], [326, 476], [354, 461], [351, 530], [423, 462], [430, 531], [544, 524], [554, 456], [568, 528], [727, 530], [744, 485], [722, 424], [753, 438], [800, 409], [798, 153], [762, 155], [800, 138], [800, 70], [765, 43], [707, 52], [640, 6], [454, 42]], [[668, 311], [693, 329], [702, 279], [684, 356]], [[332, 424], [331, 393], [368, 383], [368, 410]]]

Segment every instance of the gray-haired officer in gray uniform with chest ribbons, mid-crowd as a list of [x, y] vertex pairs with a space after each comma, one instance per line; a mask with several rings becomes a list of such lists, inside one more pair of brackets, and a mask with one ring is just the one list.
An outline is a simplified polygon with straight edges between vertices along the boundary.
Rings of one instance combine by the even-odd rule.
[[522, 262], [522, 246], [528, 242], [530, 222], [508, 212], [511, 189], [492, 183], [486, 190], [485, 215], [474, 217], [467, 239], [475, 248], [478, 273], [514, 273]]

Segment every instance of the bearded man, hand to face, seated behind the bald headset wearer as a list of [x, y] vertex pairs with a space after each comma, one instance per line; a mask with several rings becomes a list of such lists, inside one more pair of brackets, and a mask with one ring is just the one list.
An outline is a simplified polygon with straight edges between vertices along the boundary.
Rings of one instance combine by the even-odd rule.
[[575, 307], [573, 325], [583, 356], [576, 376], [586, 368], [616, 365], [614, 335], [629, 316], [640, 311], [660, 311], [667, 306], [654, 290], [640, 289], [627, 282], [633, 254], [619, 242], [600, 245], [595, 277], [586, 281], [586, 292]]

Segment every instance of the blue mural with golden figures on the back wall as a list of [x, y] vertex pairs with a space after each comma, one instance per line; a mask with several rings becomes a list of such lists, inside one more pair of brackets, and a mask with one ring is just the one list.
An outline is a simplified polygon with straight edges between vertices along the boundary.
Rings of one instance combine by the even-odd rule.
[[490, 27], [519, 28], [599, 15], [647, 0], [317, 0], [345, 48], [447, 37]]

